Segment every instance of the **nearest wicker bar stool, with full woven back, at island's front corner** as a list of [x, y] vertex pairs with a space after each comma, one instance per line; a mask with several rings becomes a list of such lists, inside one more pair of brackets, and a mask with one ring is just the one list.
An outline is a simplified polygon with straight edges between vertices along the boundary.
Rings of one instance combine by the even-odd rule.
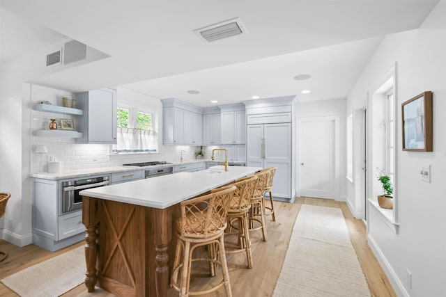
[[[224, 229], [227, 226], [226, 214], [229, 200], [236, 186], [222, 188], [208, 195], [202, 195], [180, 203], [181, 216], [176, 221], [178, 241], [171, 274], [171, 286], [179, 291], [179, 296], [201, 295], [217, 291], [224, 286], [226, 296], [232, 296], [229, 282], [228, 266], [224, 254]], [[192, 252], [199, 246], [208, 246], [207, 258], [192, 259]], [[180, 262], [183, 250], [183, 262]], [[217, 255], [219, 257], [217, 257]], [[208, 261], [210, 275], [215, 275], [213, 264], [222, 266], [223, 280], [215, 287], [203, 291], [190, 291], [190, 275], [192, 262]], [[177, 283], [178, 272], [181, 272], [180, 284]]]

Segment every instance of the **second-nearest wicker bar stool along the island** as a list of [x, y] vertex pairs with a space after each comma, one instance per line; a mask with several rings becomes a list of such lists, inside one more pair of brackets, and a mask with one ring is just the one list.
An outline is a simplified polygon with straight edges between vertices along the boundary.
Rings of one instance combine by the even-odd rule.
[[[251, 252], [251, 240], [249, 239], [249, 228], [248, 228], [248, 212], [251, 209], [251, 198], [254, 193], [254, 189], [257, 184], [256, 175], [249, 177], [243, 177], [238, 179], [233, 186], [236, 186], [236, 191], [229, 202], [228, 209], [228, 227], [224, 233], [224, 238], [226, 239], [224, 243], [224, 248], [226, 254], [233, 254], [236, 252], [245, 252], [247, 258], [248, 268], [252, 268], [252, 252]], [[233, 223], [238, 221], [236, 227]], [[237, 232], [231, 232], [231, 230], [237, 230]], [[237, 236], [238, 243], [229, 243], [227, 241], [228, 236]]]

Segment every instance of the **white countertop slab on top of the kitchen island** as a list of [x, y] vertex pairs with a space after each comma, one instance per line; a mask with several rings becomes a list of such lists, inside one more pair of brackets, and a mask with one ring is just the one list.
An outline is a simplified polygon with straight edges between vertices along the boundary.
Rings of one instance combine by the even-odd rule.
[[80, 195], [165, 209], [262, 169], [261, 167], [229, 166], [229, 170], [224, 171], [224, 166], [213, 166], [207, 170], [179, 172], [173, 175], [91, 188], [81, 191]]

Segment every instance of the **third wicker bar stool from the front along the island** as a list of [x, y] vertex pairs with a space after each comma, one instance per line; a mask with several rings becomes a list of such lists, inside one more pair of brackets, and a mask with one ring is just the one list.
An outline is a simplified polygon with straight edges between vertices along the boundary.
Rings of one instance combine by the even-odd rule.
[[[249, 230], [262, 230], [263, 241], [268, 241], [266, 234], [265, 223], [265, 204], [263, 200], [263, 193], [266, 185], [268, 184], [268, 178], [270, 176], [270, 170], [260, 170], [254, 174], [257, 179], [256, 188], [251, 198], [251, 209], [249, 210]], [[260, 216], [260, 218], [256, 218]], [[254, 223], [260, 223], [259, 226], [255, 226]]]

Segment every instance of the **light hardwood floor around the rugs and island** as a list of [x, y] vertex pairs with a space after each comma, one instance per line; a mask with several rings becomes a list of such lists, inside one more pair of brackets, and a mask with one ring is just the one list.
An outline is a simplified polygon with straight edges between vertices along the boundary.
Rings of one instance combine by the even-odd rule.
[[[378, 261], [367, 244], [366, 227], [364, 223], [362, 223], [362, 220], [353, 218], [346, 203], [325, 199], [298, 198], [294, 204], [275, 202], [277, 219], [276, 222], [272, 222], [270, 217], [267, 218], [267, 242], [263, 242], [261, 231], [252, 233], [252, 255], [254, 259], [254, 266], [252, 269], [247, 268], [246, 257], [243, 253], [228, 255], [227, 262], [229, 267], [229, 277], [231, 279], [231, 287], [234, 297], [272, 295], [275, 282], [277, 281], [282, 263], [284, 262], [291, 230], [293, 229], [295, 218], [297, 217], [302, 204], [337, 207], [341, 209], [344, 218], [346, 219], [353, 247], [356, 250], [364, 275], [367, 278], [371, 296], [396, 296], [383, 269], [378, 264]], [[57, 252], [49, 252], [33, 245], [17, 248], [6, 241], [0, 240], [0, 250], [6, 250], [9, 254], [5, 261], [0, 262], [0, 279], [26, 267], [37, 264], [38, 262], [60, 255], [62, 252], [82, 246], [83, 244], [84, 243], [77, 243], [74, 246], [70, 246]], [[215, 278], [208, 278], [206, 276], [206, 271], [203, 270], [203, 273], [200, 273], [199, 276], [193, 280], [191, 288], [194, 286], [200, 286], [201, 288], [203, 286], [206, 287], [216, 281]], [[0, 283], [0, 296], [17, 296], [17, 294]], [[63, 296], [112, 295], [105, 294], [104, 292], [102, 292], [102, 294], [88, 294], [84, 284], [81, 284], [68, 293], [63, 294]], [[173, 289], [170, 289], [169, 296], [178, 296], [178, 293]], [[217, 293], [212, 296], [224, 296], [224, 293], [222, 293], [222, 291], [217, 291]]]

